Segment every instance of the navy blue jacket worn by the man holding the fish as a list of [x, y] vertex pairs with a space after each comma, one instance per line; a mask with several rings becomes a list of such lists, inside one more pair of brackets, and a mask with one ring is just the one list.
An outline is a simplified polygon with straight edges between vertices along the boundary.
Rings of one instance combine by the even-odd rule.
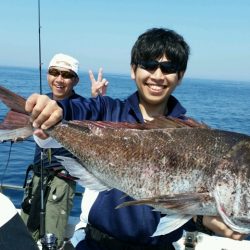
[[[64, 118], [75, 117], [79, 120], [102, 120], [115, 122], [140, 122], [143, 117], [139, 109], [139, 96], [135, 92], [124, 101], [112, 99], [107, 96], [98, 96], [90, 99], [67, 99], [59, 102], [64, 110]], [[176, 98], [170, 96], [168, 113], [173, 117], [183, 118], [186, 110]], [[164, 236], [150, 237], [156, 230], [161, 214], [152, 211], [150, 206], [128, 206], [115, 209], [123, 201], [131, 197], [117, 189], [99, 193], [95, 203], [90, 209], [89, 223], [122, 241], [136, 245], [158, 245], [177, 241], [183, 233], [183, 228], [195, 230], [194, 223], [190, 220], [182, 228]]]

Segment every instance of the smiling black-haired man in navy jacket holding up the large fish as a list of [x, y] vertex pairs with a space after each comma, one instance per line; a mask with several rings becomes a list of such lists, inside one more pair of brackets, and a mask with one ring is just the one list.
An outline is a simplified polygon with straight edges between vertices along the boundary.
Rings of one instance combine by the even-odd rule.
[[[153, 28], [140, 35], [132, 48], [131, 78], [137, 85], [137, 91], [127, 99], [98, 96], [78, 103], [60, 102], [59, 107], [48, 98], [32, 95], [26, 102], [26, 110], [32, 113], [33, 126], [42, 129], [56, 124], [74, 109], [80, 110], [79, 120], [143, 123], [155, 116], [187, 119], [186, 109], [172, 93], [184, 76], [188, 57], [189, 46], [182, 36], [173, 30]], [[93, 74], [91, 80], [95, 82]], [[43, 108], [39, 108], [41, 104], [46, 106], [50, 116], [39, 116], [43, 112]], [[34, 105], [37, 105], [36, 110], [33, 110]], [[40, 137], [40, 145], [44, 145], [41, 139], [47, 135], [39, 129], [34, 134]], [[46, 141], [49, 140], [47, 138]], [[196, 229], [195, 221], [199, 229], [203, 227], [207, 233], [213, 230], [234, 239], [243, 237], [218, 218], [204, 216], [197, 220], [195, 217], [185, 223], [153, 211], [146, 205], [115, 209], [131, 199], [117, 189], [103, 192], [85, 189], [78, 231], [82, 241], [77, 243], [73, 238], [71, 242], [75, 248], [173, 250], [172, 243], [182, 237], [183, 229]], [[77, 237], [79, 239], [79, 234]]]

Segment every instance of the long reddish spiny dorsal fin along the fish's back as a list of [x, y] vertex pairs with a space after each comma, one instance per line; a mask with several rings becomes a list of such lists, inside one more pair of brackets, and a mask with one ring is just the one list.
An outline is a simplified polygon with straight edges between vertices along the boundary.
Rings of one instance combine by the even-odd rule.
[[109, 121], [70, 121], [70, 126], [80, 129], [105, 128], [105, 129], [164, 129], [164, 128], [192, 128], [192, 127], [207, 127], [193, 119], [182, 120], [173, 117], [155, 117], [152, 121], [145, 123], [128, 123], [128, 122], [109, 122]]

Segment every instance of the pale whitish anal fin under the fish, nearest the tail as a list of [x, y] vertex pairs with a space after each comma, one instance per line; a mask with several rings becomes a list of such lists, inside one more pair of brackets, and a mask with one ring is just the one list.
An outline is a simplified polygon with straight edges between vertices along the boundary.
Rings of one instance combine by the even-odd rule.
[[77, 178], [76, 181], [81, 186], [99, 192], [110, 189], [110, 187], [107, 187], [98, 178], [91, 174], [76, 159], [59, 155], [56, 155], [55, 157], [60, 160], [62, 166], [65, 167], [65, 169], [69, 172], [71, 176]]

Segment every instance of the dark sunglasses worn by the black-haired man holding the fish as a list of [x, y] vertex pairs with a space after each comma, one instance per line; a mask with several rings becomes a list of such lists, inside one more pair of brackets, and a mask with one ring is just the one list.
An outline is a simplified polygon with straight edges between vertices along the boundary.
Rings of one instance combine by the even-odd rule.
[[155, 71], [160, 67], [163, 74], [173, 74], [178, 71], [178, 66], [170, 61], [141, 61], [138, 63], [138, 66], [148, 71]]

